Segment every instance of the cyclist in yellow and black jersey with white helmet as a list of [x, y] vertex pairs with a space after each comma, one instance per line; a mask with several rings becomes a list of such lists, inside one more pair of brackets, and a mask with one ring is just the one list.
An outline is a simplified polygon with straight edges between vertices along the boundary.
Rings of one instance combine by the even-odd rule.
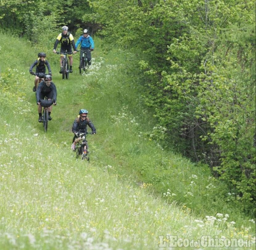
[[[75, 40], [72, 34], [70, 34], [68, 32], [68, 27], [67, 26], [63, 26], [62, 27], [62, 33], [60, 33], [55, 41], [54, 47], [53, 47], [53, 52], [56, 53], [56, 48], [58, 46], [58, 43], [61, 43], [60, 46], [60, 53], [72, 53], [72, 48], [71, 45], [74, 49], [74, 54], [77, 53], [76, 47], [75, 47]], [[60, 56], [60, 74], [62, 73], [62, 57], [64, 55]], [[73, 65], [73, 57], [72, 54], [69, 54], [69, 73], [72, 73], [72, 65]]]

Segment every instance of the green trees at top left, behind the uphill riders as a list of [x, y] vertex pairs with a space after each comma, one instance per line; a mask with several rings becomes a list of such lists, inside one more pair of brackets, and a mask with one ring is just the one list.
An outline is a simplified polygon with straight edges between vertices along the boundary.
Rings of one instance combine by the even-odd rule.
[[82, 16], [89, 11], [87, 3], [74, 0], [0, 0], [0, 24], [5, 30], [43, 44], [64, 24], [75, 33], [79, 26], [85, 25]]

